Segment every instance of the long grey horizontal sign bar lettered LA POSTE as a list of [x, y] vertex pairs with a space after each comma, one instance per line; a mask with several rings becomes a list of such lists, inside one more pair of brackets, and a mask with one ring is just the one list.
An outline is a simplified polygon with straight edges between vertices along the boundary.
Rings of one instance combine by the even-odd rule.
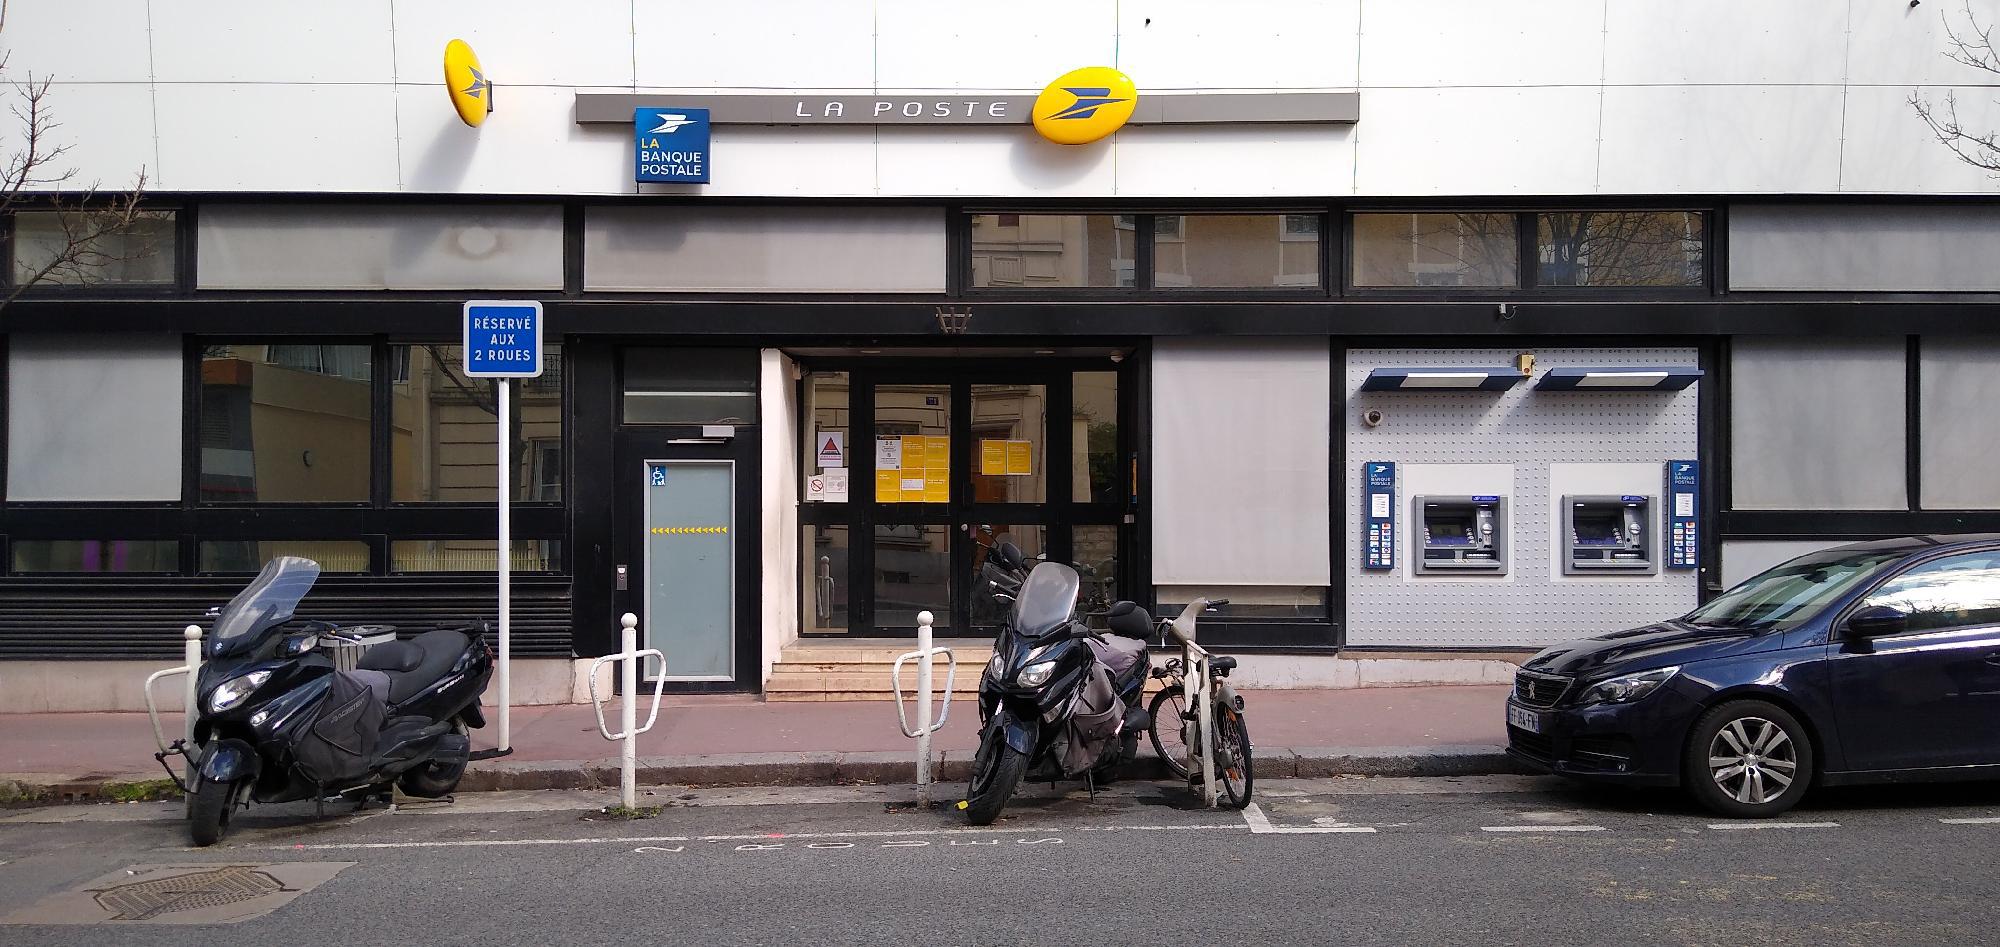
[[[576, 124], [632, 124], [636, 108], [706, 108], [716, 126], [994, 126], [1034, 120], [1034, 96], [716, 96], [578, 92]], [[1360, 92], [1140, 92], [1128, 124], [1352, 124]]]

